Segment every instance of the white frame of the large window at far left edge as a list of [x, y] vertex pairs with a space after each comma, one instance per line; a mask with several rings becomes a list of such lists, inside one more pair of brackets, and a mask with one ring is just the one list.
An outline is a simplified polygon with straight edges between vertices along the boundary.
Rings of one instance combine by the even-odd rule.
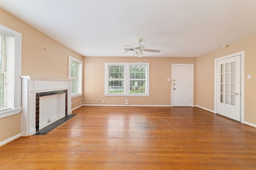
[[0, 25], [0, 31], [6, 35], [14, 37], [14, 107], [12, 109], [0, 111], [0, 118], [20, 113], [21, 107], [21, 51], [22, 34], [4, 25]]

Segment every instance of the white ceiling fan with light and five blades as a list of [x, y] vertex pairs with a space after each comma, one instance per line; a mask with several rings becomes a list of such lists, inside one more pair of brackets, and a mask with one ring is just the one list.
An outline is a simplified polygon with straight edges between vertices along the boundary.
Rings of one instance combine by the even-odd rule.
[[140, 44], [141, 41], [142, 41], [142, 39], [136, 39], [136, 42], [138, 43], [138, 45], [136, 45], [135, 47], [132, 47], [130, 45], [124, 45], [126, 47], [129, 47], [129, 48], [124, 48], [124, 53], [128, 53], [128, 52], [133, 51], [133, 52], [135, 52], [134, 53], [134, 57], [142, 57], [143, 56], [143, 52], [142, 51], [153, 52], [153, 53], [159, 53], [161, 51], [161, 50], [146, 49], [145, 48], [145, 46], [156, 44], [155, 41], [151, 41], [149, 43], [146, 43], [145, 45]]

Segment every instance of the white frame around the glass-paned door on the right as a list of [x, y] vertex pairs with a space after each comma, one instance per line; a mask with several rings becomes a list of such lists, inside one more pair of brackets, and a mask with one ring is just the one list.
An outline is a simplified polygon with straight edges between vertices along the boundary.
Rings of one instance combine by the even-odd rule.
[[217, 59], [214, 59], [214, 113], [216, 114], [217, 111], [217, 61], [228, 59], [237, 55], [241, 55], [241, 106], [240, 106], [240, 115], [241, 115], [241, 123], [244, 123], [244, 51], [240, 51], [238, 53], [226, 55]]

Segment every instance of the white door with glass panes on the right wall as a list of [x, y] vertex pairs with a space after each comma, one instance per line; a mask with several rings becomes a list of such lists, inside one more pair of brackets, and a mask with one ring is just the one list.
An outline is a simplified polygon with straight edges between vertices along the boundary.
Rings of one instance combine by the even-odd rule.
[[241, 121], [241, 55], [217, 61], [216, 113]]

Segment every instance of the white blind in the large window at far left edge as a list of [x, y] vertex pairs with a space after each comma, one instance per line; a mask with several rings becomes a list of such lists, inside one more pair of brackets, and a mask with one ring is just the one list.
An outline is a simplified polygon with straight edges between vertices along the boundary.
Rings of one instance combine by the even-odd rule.
[[0, 33], [0, 111], [14, 108], [14, 37]]

